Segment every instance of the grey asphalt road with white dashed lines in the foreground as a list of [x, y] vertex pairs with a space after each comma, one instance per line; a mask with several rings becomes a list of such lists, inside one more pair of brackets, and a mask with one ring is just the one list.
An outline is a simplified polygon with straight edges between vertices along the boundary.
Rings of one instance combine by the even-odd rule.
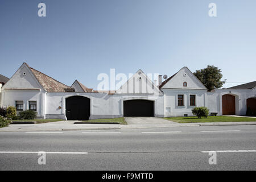
[[[216, 164], [208, 151], [217, 151]], [[0, 132], [0, 170], [255, 169], [255, 125]]]

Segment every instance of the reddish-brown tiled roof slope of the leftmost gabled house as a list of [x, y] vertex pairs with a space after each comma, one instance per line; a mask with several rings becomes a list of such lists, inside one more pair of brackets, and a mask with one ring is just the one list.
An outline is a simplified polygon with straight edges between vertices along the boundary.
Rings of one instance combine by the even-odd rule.
[[70, 86], [67, 86], [52, 77], [49, 77], [45, 75], [42, 72], [37, 71], [34, 68], [31, 68], [28, 66], [28, 68], [31, 69], [32, 73], [36, 77], [36, 79], [39, 81], [40, 85], [43, 86], [44, 90], [47, 92], [65, 92], [65, 89], [71, 89]]

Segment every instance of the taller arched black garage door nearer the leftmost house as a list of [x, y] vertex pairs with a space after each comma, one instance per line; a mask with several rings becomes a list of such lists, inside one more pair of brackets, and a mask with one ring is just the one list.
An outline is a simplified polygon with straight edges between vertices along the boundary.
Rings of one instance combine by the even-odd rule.
[[90, 99], [82, 96], [66, 98], [66, 117], [68, 120], [88, 120]]

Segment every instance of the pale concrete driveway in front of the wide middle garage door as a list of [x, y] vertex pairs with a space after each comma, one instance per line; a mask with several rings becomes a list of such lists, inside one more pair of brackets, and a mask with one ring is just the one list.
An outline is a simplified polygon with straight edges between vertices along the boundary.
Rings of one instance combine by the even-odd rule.
[[156, 117], [125, 117], [128, 125], [176, 124], [167, 119]]

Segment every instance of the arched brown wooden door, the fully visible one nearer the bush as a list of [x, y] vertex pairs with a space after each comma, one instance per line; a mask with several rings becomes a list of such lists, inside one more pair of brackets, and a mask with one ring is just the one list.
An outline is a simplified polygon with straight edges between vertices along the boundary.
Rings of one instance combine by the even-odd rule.
[[235, 96], [226, 94], [222, 96], [222, 115], [235, 115], [236, 102]]

